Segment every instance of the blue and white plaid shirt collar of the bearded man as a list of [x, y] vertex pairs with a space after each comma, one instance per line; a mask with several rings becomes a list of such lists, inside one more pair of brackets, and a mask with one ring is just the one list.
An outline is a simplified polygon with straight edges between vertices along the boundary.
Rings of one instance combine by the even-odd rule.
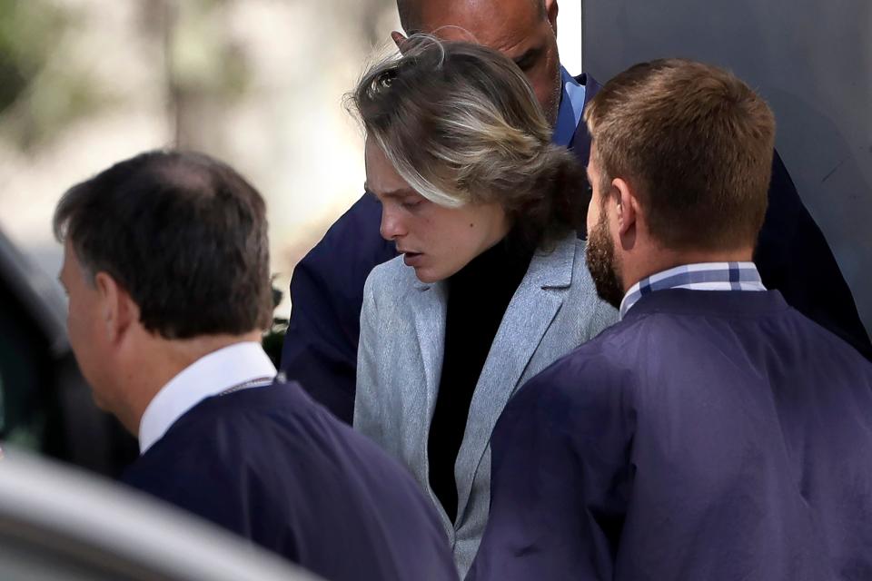
[[701, 262], [658, 272], [629, 288], [620, 302], [620, 318], [639, 299], [654, 291], [766, 291], [754, 262]]

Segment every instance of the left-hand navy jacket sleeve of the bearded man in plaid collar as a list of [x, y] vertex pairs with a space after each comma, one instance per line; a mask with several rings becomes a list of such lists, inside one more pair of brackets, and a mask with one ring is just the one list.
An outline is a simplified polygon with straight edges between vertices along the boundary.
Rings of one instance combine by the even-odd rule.
[[631, 425], [619, 389], [572, 367], [531, 379], [494, 430], [490, 517], [468, 580], [612, 578]]

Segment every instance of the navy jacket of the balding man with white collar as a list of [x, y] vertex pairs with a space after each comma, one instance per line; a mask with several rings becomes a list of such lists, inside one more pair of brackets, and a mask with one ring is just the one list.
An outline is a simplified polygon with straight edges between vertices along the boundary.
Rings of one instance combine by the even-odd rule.
[[205, 399], [124, 481], [325, 579], [456, 579], [408, 472], [294, 383]]

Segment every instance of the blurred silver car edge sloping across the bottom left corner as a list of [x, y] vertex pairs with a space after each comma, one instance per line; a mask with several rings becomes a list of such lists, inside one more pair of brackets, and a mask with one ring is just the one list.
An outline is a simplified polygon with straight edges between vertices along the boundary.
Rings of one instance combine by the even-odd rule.
[[0, 578], [317, 579], [151, 497], [15, 450], [0, 460]]

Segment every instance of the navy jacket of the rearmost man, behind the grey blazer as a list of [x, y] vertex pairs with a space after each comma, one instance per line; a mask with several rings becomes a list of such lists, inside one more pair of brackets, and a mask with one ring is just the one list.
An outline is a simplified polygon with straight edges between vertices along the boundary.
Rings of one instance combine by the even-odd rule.
[[[580, 75], [585, 101], [599, 90]], [[587, 165], [590, 135], [580, 123], [570, 150]], [[351, 423], [363, 283], [396, 250], [381, 238], [381, 204], [364, 195], [293, 271], [292, 313], [282, 348], [282, 371], [312, 398]], [[763, 283], [812, 320], [872, 359], [872, 344], [857, 315], [827, 241], [799, 199], [784, 163], [775, 156], [769, 207], [755, 257]]]

